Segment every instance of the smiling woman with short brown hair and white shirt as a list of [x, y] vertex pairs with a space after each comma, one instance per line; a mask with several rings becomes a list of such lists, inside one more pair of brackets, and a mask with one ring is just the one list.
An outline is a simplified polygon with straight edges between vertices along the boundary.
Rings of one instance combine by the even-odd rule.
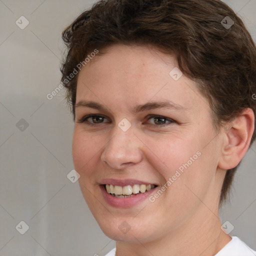
[[74, 167], [107, 256], [256, 255], [218, 213], [255, 138], [239, 17], [219, 0], [105, 0], [62, 37]]

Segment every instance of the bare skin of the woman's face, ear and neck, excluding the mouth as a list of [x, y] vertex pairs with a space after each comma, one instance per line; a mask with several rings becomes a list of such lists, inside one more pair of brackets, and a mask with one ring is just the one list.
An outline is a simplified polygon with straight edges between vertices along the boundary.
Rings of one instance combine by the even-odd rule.
[[[248, 149], [252, 110], [245, 109], [217, 132], [196, 83], [169, 75], [177, 66], [174, 57], [121, 44], [103, 52], [79, 72], [72, 145], [92, 214], [116, 240], [117, 256], [215, 255], [231, 240], [220, 229], [219, 194], [226, 169]], [[151, 105], [133, 111], [135, 105], [167, 101], [171, 108]], [[88, 114], [98, 117], [85, 119]], [[118, 126], [123, 118], [131, 124], [126, 131]], [[196, 152], [200, 155], [194, 159]], [[105, 178], [138, 179], [161, 188], [185, 163], [189, 166], [154, 201], [114, 207], [102, 196], [99, 184]], [[118, 228], [124, 221], [130, 227], [126, 233]]]

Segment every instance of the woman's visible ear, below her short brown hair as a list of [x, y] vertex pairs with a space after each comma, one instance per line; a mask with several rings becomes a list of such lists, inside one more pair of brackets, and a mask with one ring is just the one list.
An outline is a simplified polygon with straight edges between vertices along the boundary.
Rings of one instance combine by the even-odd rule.
[[218, 167], [231, 169], [238, 165], [248, 150], [254, 131], [254, 113], [251, 108], [245, 108], [241, 113], [226, 124], [223, 129], [223, 144]]

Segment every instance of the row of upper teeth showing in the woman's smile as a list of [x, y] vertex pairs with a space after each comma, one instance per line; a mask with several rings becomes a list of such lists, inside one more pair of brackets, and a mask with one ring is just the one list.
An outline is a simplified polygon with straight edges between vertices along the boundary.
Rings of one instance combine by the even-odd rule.
[[155, 185], [145, 185], [145, 184], [135, 184], [133, 186], [127, 185], [127, 186], [115, 186], [115, 185], [109, 185], [106, 184], [105, 188], [106, 191], [110, 194], [118, 195], [117, 197], [122, 197], [121, 195], [132, 195], [137, 193], [144, 193], [145, 191], [149, 191], [150, 189], [154, 188]]

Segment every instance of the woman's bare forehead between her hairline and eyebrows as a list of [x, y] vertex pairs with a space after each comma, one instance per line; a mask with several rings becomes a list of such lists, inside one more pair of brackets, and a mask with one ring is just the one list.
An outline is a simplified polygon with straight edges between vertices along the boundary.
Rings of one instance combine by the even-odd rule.
[[171, 100], [188, 109], [209, 107], [194, 81], [182, 75], [173, 56], [147, 46], [112, 45], [78, 75], [76, 103], [93, 100], [127, 109], [150, 100]]

